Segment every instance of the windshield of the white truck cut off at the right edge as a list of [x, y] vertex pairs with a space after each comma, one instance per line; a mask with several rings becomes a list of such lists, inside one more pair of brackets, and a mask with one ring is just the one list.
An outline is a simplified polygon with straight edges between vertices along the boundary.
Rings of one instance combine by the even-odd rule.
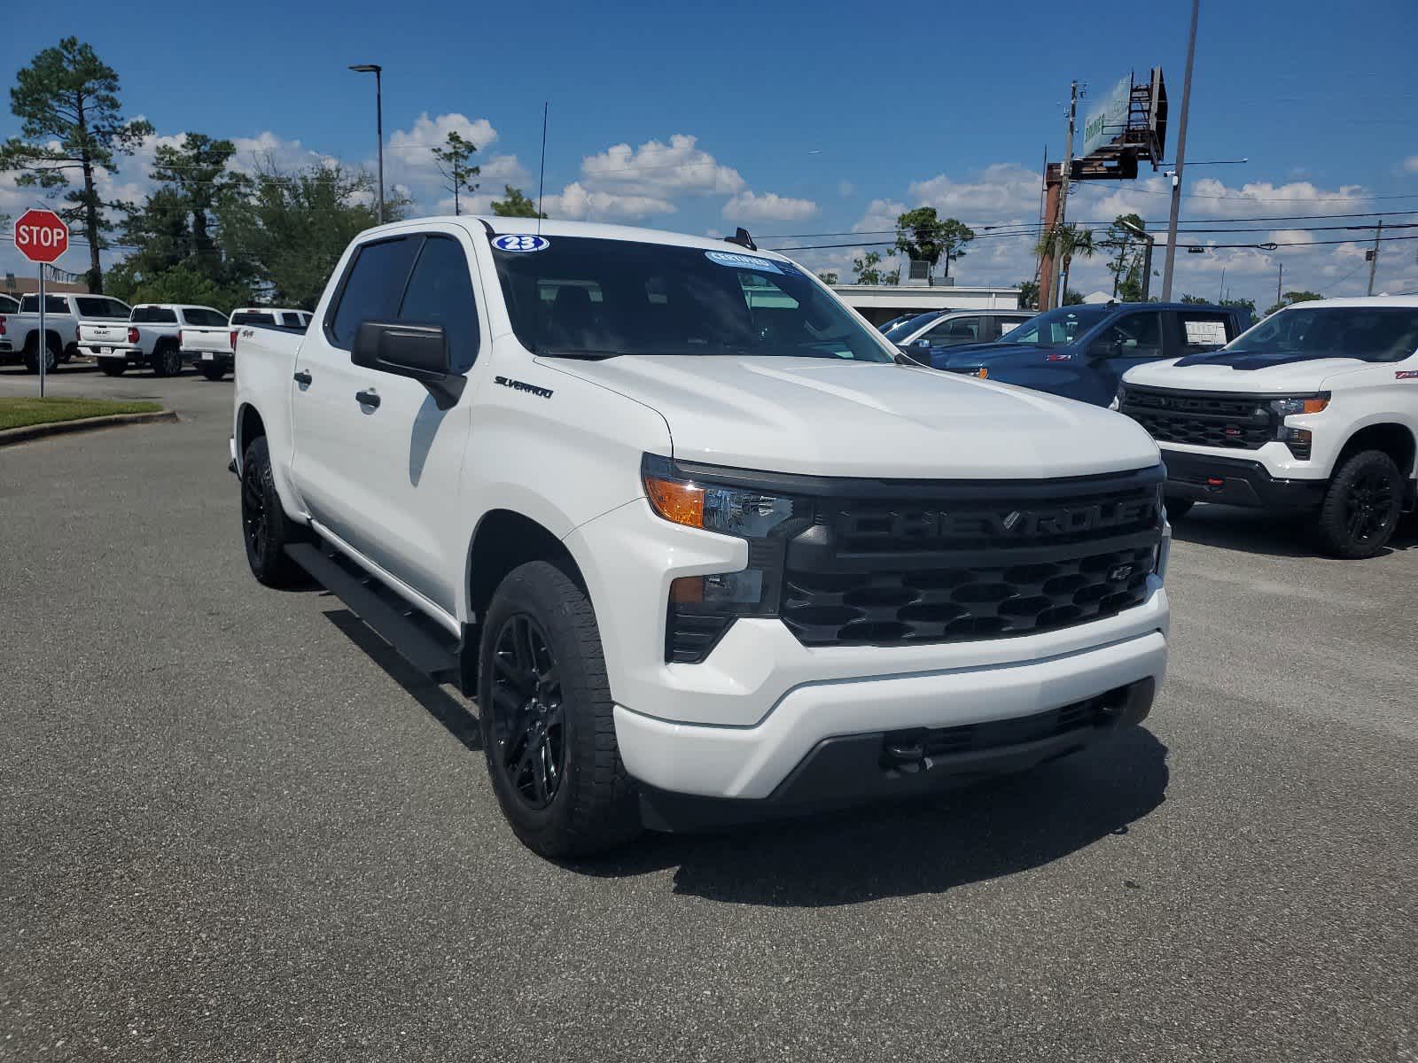
[[1271, 315], [1221, 351], [1402, 361], [1418, 351], [1418, 308], [1296, 306]]

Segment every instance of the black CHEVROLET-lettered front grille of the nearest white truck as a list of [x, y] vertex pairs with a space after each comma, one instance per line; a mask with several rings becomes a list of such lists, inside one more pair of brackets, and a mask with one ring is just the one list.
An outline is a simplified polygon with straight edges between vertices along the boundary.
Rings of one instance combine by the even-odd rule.
[[808, 646], [1031, 635], [1137, 605], [1161, 539], [1161, 468], [824, 497], [788, 543], [781, 618]]

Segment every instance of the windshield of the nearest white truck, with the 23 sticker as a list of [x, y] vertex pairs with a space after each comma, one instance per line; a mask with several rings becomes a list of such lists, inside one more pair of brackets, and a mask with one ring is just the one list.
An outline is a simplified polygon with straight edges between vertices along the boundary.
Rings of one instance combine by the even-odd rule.
[[869, 327], [788, 262], [630, 240], [543, 242], [540, 251], [492, 249], [512, 329], [536, 354], [892, 360]]

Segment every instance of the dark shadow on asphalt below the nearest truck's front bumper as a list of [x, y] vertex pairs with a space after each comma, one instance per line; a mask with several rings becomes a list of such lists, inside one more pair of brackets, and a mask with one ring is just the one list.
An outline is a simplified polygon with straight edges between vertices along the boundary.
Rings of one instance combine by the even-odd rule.
[[645, 835], [571, 869], [621, 877], [676, 867], [675, 893], [732, 904], [830, 907], [946, 893], [1126, 835], [1166, 799], [1167, 747], [1133, 727], [1112, 743], [927, 801], [725, 835]]

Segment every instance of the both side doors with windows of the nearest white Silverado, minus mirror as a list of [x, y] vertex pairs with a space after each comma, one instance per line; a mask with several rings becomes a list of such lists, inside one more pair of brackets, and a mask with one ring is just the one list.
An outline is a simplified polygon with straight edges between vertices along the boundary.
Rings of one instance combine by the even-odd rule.
[[424, 384], [356, 366], [350, 349], [366, 320], [441, 325], [455, 369], [471, 370], [486, 329], [464, 241], [450, 228], [360, 247], [323, 327], [306, 332], [291, 404], [311, 514], [450, 614], [467, 549], [450, 516], [474, 388], [440, 410]]

